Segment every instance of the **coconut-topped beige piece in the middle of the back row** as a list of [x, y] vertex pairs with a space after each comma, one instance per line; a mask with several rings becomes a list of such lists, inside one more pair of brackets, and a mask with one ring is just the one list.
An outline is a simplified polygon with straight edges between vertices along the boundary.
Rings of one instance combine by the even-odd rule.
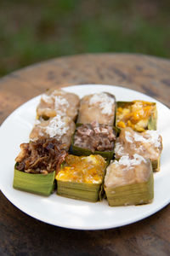
[[113, 125], [115, 119], [116, 99], [108, 92], [100, 92], [84, 96], [80, 102], [78, 124]]

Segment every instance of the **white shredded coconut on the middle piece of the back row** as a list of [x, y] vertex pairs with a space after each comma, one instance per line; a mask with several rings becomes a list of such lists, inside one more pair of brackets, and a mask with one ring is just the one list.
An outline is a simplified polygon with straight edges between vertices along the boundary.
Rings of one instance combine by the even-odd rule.
[[115, 100], [113, 97], [108, 96], [105, 92], [102, 92], [94, 94], [94, 96], [92, 96], [90, 99], [89, 105], [92, 106], [99, 103], [99, 108], [102, 109], [101, 113], [111, 114], [114, 102]]

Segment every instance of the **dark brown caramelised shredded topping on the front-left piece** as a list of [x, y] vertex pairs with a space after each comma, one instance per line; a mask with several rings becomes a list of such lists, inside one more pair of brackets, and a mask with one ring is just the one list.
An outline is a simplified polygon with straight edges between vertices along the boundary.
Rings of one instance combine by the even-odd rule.
[[36, 142], [20, 144], [20, 154], [16, 157], [16, 169], [22, 172], [48, 174], [58, 171], [65, 160], [64, 144], [55, 138], [42, 138]]

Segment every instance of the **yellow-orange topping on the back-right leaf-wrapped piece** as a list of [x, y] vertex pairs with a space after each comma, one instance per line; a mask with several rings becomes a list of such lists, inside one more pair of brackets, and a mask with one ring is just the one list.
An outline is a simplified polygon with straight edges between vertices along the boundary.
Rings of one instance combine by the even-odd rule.
[[116, 109], [116, 125], [120, 128], [132, 127], [134, 131], [144, 131], [154, 110], [155, 104], [152, 102], [124, 103], [122, 107]]

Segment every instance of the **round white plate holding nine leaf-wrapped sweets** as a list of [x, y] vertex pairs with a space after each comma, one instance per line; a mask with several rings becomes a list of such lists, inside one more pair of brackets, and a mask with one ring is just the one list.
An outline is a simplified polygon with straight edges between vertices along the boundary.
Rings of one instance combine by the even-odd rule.
[[26, 102], [10, 114], [0, 129], [0, 189], [14, 206], [48, 224], [77, 230], [100, 230], [132, 224], [165, 207], [170, 201], [170, 111], [150, 96], [135, 90], [101, 84], [84, 84], [67, 87], [64, 90], [84, 96], [94, 92], [108, 91], [117, 101], [145, 100], [157, 103], [158, 131], [163, 139], [161, 172], [154, 174], [155, 199], [151, 204], [130, 207], [109, 207], [107, 201], [89, 203], [67, 199], [59, 195], [48, 198], [31, 195], [13, 189], [14, 158], [20, 152], [20, 143], [27, 143], [36, 117], [40, 96]]

